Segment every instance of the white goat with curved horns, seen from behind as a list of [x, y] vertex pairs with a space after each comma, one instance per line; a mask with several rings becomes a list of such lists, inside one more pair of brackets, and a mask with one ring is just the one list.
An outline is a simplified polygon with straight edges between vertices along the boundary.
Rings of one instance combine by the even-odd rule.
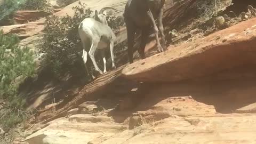
[[[114, 51], [113, 51], [114, 43], [116, 42], [116, 36], [113, 30], [108, 26], [108, 22], [106, 20], [107, 9], [113, 9], [116, 11], [116, 9], [114, 9], [113, 7], [103, 7], [99, 11], [99, 13], [97, 10], [95, 10], [94, 18], [85, 18], [78, 27], [78, 33], [83, 45], [82, 58], [85, 63], [86, 71], [89, 75], [90, 75], [89, 70], [86, 67], [87, 52], [89, 52], [89, 56], [92, 60], [95, 70], [99, 71], [100, 74], [103, 74], [107, 72], [105, 49], [107, 47], [110, 47], [112, 68], [114, 69], [116, 68]], [[97, 49], [100, 50], [101, 55], [103, 57], [103, 63], [104, 63], [103, 73], [98, 67], [94, 58], [94, 53]], [[94, 78], [93, 75], [92, 75], [92, 78]]]

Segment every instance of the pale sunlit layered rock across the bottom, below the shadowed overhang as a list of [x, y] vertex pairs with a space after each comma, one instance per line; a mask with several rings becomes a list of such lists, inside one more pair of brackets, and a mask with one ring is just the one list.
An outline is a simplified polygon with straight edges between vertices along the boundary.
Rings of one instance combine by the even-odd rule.
[[[142, 106], [145, 108], [146, 103], [154, 101], [153, 99], [149, 96], [137, 109]], [[163, 99], [147, 111], [132, 113], [123, 123], [115, 123], [116, 116], [109, 117], [106, 116], [107, 113], [109, 110], [98, 113], [98, 116], [77, 114], [69, 118], [55, 119], [46, 124], [49, 126], [29, 135], [26, 141], [30, 144], [255, 141], [255, 115], [218, 114], [213, 106], [197, 102], [191, 96]]]

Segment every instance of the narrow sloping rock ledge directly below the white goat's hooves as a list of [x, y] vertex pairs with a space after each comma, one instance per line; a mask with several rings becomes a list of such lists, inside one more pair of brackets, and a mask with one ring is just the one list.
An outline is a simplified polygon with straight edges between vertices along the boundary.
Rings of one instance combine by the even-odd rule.
[[[64, 104], [61, 103], [62, 107], [59, 107], [58, 110], [53, 111], [52, 113], [49, 113], [49, 111], [43, 111], [42, 113], [40, 113], [38, 121], [44, 121], [46, 123], [53, 121], [56, 118], [66, 115], [69, 110], [78, 107], [85, 101], [89, 101], [91, 99], [98, 99], [102, 97], [102, 95], [108, 96], [108, 94], [110, 93], [109, 91], [113, 92], [113, 90], [115, 90], [115, 87], [123, 86], [123, 84], [121, 83], [125, 81], [120, 81], [119, 79], [121, 70], [123, 68], [124, 66], [110, 71], [109, 73], [103, 74], [98, 79], [95, 79], [95, 81], [93, 81], [92, 83], [85, 85], [81, 91], [75, 92], [75, 94], [73, 95], [74, 99], [67, 99], [63, 102]], [[127, 83], [129, 82], [126, 82], [126, 84]], [[127, 89], [130, 89], [130, 87], [127, 86], [124, 87], [124, 89], [127, 91]], [[125, 94], [123, 91], [118, 92], [118, 90], [114, 91], [114, 93]]]

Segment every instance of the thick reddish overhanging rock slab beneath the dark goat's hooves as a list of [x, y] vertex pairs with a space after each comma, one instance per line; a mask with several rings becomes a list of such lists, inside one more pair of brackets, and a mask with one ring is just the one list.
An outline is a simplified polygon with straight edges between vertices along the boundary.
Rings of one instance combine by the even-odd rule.
[[122, 74], [140, 82], [177, 82], [255, 65], [255, 22], [254, 18], [194, 42], [168, 47], [169, 51], [126, 66]]

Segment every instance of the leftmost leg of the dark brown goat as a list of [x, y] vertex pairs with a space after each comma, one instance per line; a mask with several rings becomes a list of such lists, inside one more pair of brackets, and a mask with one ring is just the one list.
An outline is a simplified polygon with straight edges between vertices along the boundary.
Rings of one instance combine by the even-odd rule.
[[126, 22], [127, 30], [127, 41], [128, 41], [128, 58], [129, 62], [133, 63], [133, 45], [134, 45], [134, 35], [135, 35], [135, 26], [131, 21]]

